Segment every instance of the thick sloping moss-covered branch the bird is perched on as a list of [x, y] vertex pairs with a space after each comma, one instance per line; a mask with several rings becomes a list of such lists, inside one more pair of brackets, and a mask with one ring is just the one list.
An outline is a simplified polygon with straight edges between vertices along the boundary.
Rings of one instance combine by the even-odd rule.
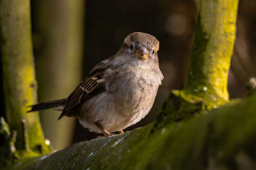
[[187, 121], [77, 143], [14, 168], [255, 169], [255, 101], [256, 95]]

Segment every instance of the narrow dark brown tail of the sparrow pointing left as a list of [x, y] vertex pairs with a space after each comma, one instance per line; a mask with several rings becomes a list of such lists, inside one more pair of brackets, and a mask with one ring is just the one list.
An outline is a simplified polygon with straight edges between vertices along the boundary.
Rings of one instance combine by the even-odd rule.
[[67, 103], [67, 99], [60, 99], [60, 100], [55, 100], [55, 101], [47, 101], [44, 103], [38, 103], [35, 105], [28, 106], [28, 108], [31, 109], [28, 112], [45, 110], [45, 109], [49, 109], [49, 108], [57, 108], [58, 109], [61, 106], [62, 107], [65, 106], [66, 103]]

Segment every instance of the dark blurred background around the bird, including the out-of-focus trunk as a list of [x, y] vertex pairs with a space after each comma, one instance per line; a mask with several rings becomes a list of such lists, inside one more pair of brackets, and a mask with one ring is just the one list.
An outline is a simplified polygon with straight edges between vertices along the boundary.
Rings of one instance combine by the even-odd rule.
[[[154, 107], [136, 125], [153, 122], [171, 90], [182, 89], [188, 71], [198, 1], [193, 0], [31, 0], [38, 101], [67, 97], [92, 67], [114, 55], [129, 33], [147, 32], [160, 41], [164, 74]], [[256, 76], [256, 1], [240, 0], [237, 38], [230, 67], [230, 98], [246, 97], [246, 83]], [[56, 150], [98, 136], [60, 112], [40, 114], [45, 138]]]

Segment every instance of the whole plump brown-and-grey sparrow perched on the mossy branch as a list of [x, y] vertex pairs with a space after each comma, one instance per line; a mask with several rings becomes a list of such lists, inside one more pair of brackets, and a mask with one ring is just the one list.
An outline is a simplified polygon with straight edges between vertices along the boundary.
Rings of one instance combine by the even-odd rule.
[[65, 99], [28, 106], [32, 111], [54, 108], [60, 118], [77, 117], [91, 132], [111, 136], [136, 124], [151, 110], [163, 74], [159, 69], [159, 41], [132, 32], [112, 57], [96, 64]]

